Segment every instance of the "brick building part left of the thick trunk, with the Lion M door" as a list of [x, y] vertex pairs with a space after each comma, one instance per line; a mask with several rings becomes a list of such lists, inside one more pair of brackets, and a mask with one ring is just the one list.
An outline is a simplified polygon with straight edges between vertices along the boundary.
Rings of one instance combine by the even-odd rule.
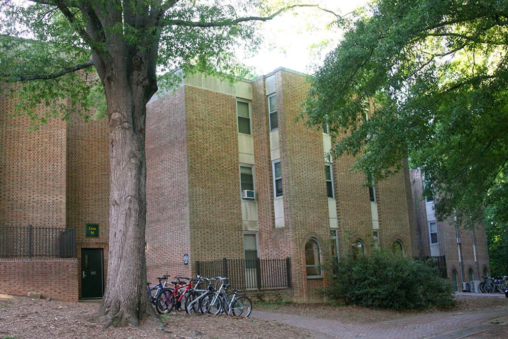
[[[62, 300], [102, 297], [109, 234], [107, 122], [49, 119], [29, 132], [27, 117], [11, 115], [15, 103], [0, 91], [0, 291], [37, 291]], [[46, 108], [38, 111], [45, 114]], [[59, 246], [61, 230], [72, 227], [76, 258], [48, 252]]]

